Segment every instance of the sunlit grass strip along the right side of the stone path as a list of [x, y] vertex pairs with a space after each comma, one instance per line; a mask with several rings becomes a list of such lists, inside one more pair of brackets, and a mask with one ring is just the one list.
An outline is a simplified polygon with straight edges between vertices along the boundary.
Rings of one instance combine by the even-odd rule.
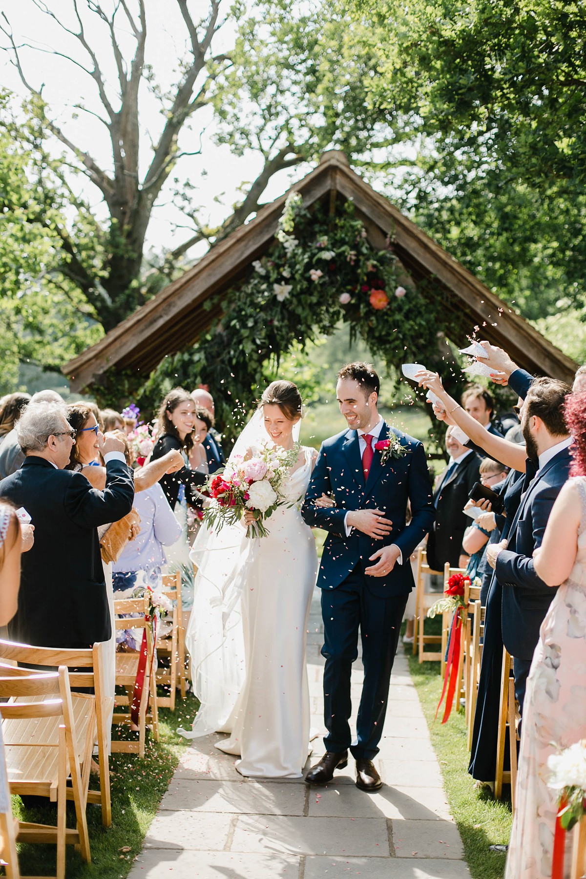
[[487, 789], [474, 788], [474, 780], [467, 771], [470, 755], [464, 713], [456, 712], [454, 706], [447, 723], [442, 725], [441, 713], [434, 723], [442, 692], [439, 663], [424, 662], [419, 665], [417, 657], [411, 653], [410, 645], [406, 653], [409, 671], [430, 729], [431, 744], [438, 757], [447, 801], [462, 838], [470, 875], [472, 879], [503, 879], [505, 855], [488, 851], [488, 846], [509, 841], [512, 823], [510, 802], [498, 802]]

